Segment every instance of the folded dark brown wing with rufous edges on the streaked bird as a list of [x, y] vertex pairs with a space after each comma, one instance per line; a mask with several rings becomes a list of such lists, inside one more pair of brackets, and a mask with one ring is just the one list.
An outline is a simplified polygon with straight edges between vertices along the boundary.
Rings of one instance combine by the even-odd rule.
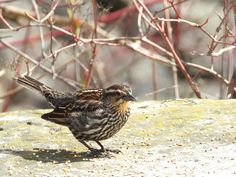
[[103, 103], [97, 100], [78, 100], [66, 108], [55, 108], [42, 118], [76, 130], [94, 128], [102, 123], [105, 114]]

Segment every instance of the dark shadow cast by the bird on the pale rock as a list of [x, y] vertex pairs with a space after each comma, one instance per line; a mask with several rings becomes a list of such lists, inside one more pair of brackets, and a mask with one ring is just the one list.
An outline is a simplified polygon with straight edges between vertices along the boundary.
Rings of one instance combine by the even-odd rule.
[[12, 154], [20, 156], [26, 160], [41, 161], [43, 163], [65, 163], [65, 162], [81, 162], [90, 161], [93, 158], [100, 158], [101, 156], [88, 152], [75, 152], [64, 149], [44, 149], [35, 148], [33, 150], [14, 150], [14, 149], [0, 149], [0, 154]]

